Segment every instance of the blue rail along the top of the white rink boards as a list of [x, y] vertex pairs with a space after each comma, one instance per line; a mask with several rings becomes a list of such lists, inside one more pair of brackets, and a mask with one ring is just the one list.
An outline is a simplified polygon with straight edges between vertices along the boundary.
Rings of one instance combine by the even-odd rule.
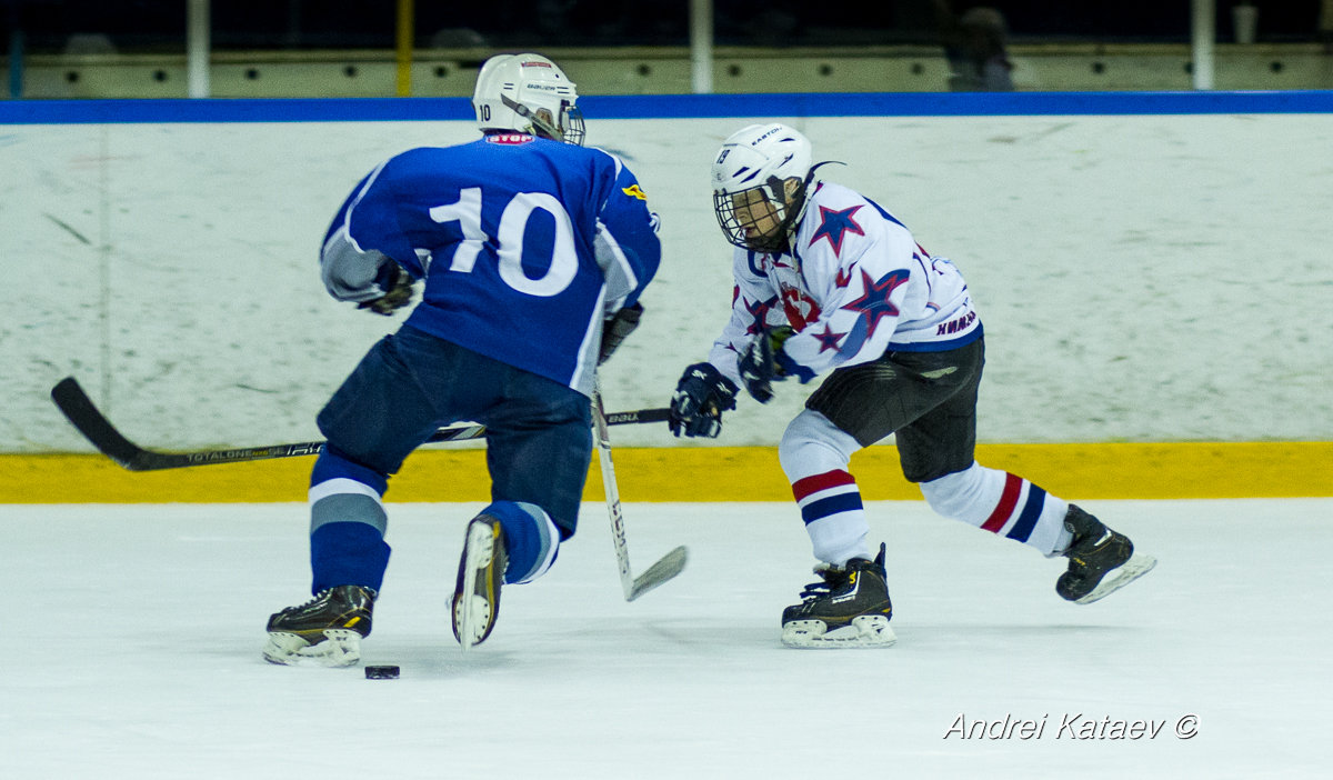
[[[592, 119], [1333, 113], [1333, 91], [589, 95]], [[467, 97], [0, 100], [0, 124], [465, 121]]]

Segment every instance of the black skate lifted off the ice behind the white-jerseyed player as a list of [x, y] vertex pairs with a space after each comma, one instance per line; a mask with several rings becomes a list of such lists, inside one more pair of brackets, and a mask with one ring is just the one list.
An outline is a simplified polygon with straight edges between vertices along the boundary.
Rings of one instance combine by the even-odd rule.
[[1060, 575], [1056, 592], [1074, 604], [1092, 604], [1146, 575], [1157, 565], [1150, 555], [1078, 507], [1069, 504], [1065, 528], [1073, 535], [1065, 557], [1069, 571]]

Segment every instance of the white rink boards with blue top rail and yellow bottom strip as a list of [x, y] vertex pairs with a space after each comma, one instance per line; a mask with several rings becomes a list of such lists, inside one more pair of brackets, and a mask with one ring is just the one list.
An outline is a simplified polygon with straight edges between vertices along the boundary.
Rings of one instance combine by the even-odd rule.
[[[1084, 473], [1073, 491], [1088, 495], [1149, 483], [1158, 487], [1137, 492], [1269, 495], [1281, 483], [1280, 495], [1333, 495], [1333, 93], [583, 105], [589, 143], [624, 157], [663, 217], [644, 325], [604, 371], [609, 407], [664, 405], [681, 368], [706, 353], [730, 299], [708, 164], [732, 131], [780, 120], [809, 135], [816, 159], [845, 163], [822, 168], [826, 179], [873, 197], [968, 276], [988, 333], [978, 437], [997, 448], [990, 463], [1077, 451], [1040, 463], [1057, 480]], [[49, 403], [69, 375], [141, 444], [317, 439], [320, 405], [396, 327], [327, 297], [316, 252], [328, 220], [384, 157], [475, 137], [469, 117], [461, 99], [0, 103], [0, 501], [144, 500], [147, 475], [88, 472], [80, 489], [63, 480], [105, 465]], [[712, 485], [718, 463], [736, 468], [709, 488], [713, 500], [753, 499], [736, 492], [746, 475], [781, 499], [765, 459], [810, 389], [742, 401], [716, 441], [617, 428], [623, 457], [644, 464], [640, 484], [657, 485], [641, 500]], [[712, 463], [698, 455], [709, 448]], [[448, 461], [448, 476], [400, 493], [483, 489], [479, 453], [457, 449], [415, 456]], [[892, 447], [866, 457], [893, 481]], [[168, 475], [149, 495], [300, 500], [303, 477], [283, 471], [293, 463], [240, 480], [276, 493], [179, 487], [249, 468], [212, 467]], [[125, 476], [143, 481], [84, 489]], [[900, 493], [912, 495], [898, 485], [884, 497]]]

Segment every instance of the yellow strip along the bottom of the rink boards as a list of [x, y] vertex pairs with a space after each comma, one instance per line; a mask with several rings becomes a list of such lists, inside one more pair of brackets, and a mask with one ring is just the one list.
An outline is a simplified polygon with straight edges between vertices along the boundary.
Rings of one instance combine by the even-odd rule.
[[[615, 451], [624, 501], [789, 501], [773, 447]], [[1333, 441], [982, 444], [984, 465], [1065, 499], [1333, 496]], [[304, 501], [313, 459], [127, 472], [99, 455], [0, 455], [0, 504]], [[894, 447], [852, 459], [866, 500], [920, 500]], [[389, 501], [491, 500], [480, 449], [423, 449], [389, 483]], [[584, 499], [603, 499], [593, 465]]]

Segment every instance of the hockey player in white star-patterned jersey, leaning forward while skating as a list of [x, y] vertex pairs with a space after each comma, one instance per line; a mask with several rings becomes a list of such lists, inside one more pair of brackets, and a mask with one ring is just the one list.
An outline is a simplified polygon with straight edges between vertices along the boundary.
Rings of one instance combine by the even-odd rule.
[[778, 444], [820, 561], [820, 581], [782, 612], [784, 644], [893, 644], [885, 545], [872, 555], [848, 472], [853, 452], [890, 433], [904, 476], [936, 512], [1069, 559], [1061, 597], [1088, 604], [1146, 573], [1156, 561], [1124, 535], [976, 461], [985, 341], [962, 275], [816, 168], [809, 140], [781, 124], [746, 127], [717, 152], [713, 207], [736, 247], [732, 313], [670, 403], [673, 433], [717, 436], [741, 387], [766, 403], [773, 381], [829, 375]]

